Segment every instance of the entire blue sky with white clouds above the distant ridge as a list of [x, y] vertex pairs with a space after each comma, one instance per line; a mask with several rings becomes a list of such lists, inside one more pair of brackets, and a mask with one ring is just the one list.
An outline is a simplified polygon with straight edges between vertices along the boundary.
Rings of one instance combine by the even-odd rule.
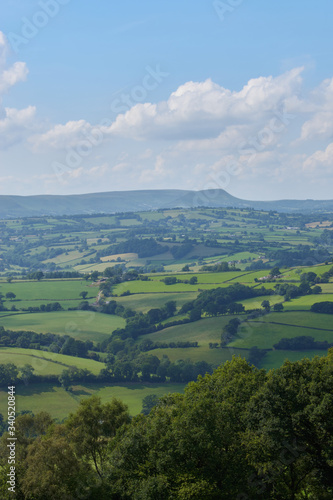
[[332, 11], [3, 0], [0, 194], [332, 198]]

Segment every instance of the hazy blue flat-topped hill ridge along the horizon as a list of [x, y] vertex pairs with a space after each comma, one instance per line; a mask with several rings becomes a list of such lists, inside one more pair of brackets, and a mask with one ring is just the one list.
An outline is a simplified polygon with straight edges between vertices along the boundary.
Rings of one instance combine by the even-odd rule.
[[194, 208], [200, 206], [212, 208], [247, 207], [279, 212], [319, 212], [333, 210], [333, 200], [247, 201], [235, 198], [223, 189], [203, 191], [154, 189], [76, 195], [0, 195], [0, 218], [111, 214], [157, 210], [160, 208]]

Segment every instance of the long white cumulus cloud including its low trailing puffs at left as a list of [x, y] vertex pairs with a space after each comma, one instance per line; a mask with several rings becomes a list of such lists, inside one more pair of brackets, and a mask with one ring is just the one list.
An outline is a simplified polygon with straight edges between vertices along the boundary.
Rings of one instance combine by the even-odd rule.
[[94, 127], [85, 120], [70, 121], [32, 137], [31, 142], [37, 149], [73, 147], [95, 131], [104, 138], [182, 141], [180, 148], [185, 150], [195, 148], [198, 141], [202, 149], [230, 149], [277, 110], [296, 106], [302, 70], [295, 68], [277, 77], [251, 79], [239, 92], [211, 79], [190, 81], [166, 101], [136, 104], [113, 123]]

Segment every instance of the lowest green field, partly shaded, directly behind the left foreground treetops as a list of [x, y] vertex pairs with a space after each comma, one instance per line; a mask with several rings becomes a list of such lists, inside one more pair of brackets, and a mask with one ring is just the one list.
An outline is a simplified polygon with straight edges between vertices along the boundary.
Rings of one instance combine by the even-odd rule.
[[[70, 412], [75, 412], [81, 399], [96, 394], [103, 403], [113, 397], [121, 399], [128, 405], [131, 415], [140, 413], [142, 399], [148, 394], [161, 397], [172, 392], [184, 391], [185, 384], [85, 384], [73, 386], [73, 392], [66, 392], [62, 387], [53, 384], [30, 384], [16, 387], [17, 411], [46, 411], [52, 417], [62, 420]], [[7, 413], [7, 392], [0, 391], [0, 412]]]

